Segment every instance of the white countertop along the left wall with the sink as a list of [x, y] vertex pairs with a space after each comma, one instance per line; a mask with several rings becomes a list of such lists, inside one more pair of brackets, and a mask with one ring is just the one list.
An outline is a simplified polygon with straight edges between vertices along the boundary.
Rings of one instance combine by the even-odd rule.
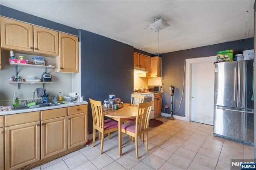
[[44, 111], [44, 110], [49, 110], [49, 109], [57, 109], [57, 108], [62, 108], [62, 107], [71, 107], [71, 106], [86, 105], [86, 104], [88, 104], [88, 101], [76, 102], [76, 103], [67, 102], [66, 104], [62, 104], [62, 105], [38, 107], [38, 108], [33, 108], [33, 109], [18, 109], [18, 110], [11, 110], [11, 111], [0, 111], [0, 116], [12, 115], [12, 114], [17, 114], [17, 113], [34, 112], [34, 111]]

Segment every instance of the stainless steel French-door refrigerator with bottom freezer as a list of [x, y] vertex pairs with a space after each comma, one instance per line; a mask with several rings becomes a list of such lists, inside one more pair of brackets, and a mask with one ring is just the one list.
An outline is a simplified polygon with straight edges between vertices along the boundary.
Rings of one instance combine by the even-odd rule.
[[214, 136], [254, 144], [253, 60], [215, 63]]

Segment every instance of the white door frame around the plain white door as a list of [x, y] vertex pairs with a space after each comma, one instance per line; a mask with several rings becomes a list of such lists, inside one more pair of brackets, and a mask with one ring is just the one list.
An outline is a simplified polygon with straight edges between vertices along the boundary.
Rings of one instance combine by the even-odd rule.
[[[185, 120], [187, 122], [191, 121], [191, 65], [198, 64], [198, 63], [209, 63], [216, 61], [216, 55], [209, 56], [209, 57], [198, 57], [198, 58], [191, 58], [185, 59], [185, 67], [186, 67], [186, 74], [185, 74]], [[212, 63], [214, 64], [214, 63]], [[213, 106], [212, 106], [213, 108]]]

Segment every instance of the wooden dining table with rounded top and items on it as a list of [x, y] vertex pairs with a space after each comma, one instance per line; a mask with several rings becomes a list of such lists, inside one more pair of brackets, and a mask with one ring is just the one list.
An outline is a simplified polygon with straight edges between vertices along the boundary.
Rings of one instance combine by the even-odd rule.
[[118, 121], [118, 148], [119, 156], [122, 156], [122, 123], [125, 120], [136, 118], [138, 113], [138, 105], [124, 103], [120, 109], [103, 108], [103, 114]]

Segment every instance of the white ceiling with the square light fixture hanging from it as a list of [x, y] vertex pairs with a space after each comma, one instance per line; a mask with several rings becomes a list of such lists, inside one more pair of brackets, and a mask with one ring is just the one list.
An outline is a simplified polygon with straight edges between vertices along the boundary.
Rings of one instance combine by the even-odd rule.
[[0, 0], [0, 4], [158, 54], [254, 36], [254, 0]]

